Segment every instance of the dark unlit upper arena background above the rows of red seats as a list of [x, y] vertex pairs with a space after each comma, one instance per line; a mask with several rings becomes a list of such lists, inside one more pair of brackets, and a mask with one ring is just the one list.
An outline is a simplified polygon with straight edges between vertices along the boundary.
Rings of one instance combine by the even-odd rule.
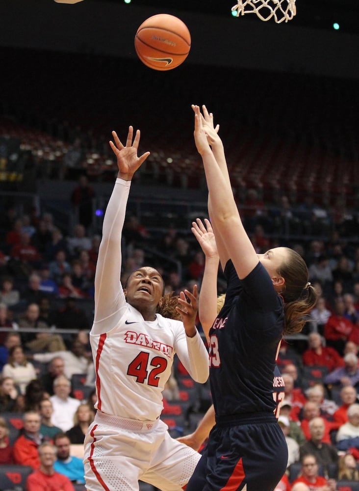
[[[297, 0], [297, 16], [279, 25], [235, 18], [233, 3], [1, 0], [2, 110], [26, 122], [66, 120], [104, 139], [133, 124], [150, 150], [194, 151], [190, 105], [205, 103], [225, 144], [246, 129], [357, 160], [359, 2]], [[145, 67], [133, 46], [137, 27], [161, 12], [192, 36], [188, 58], [168, 72]]]

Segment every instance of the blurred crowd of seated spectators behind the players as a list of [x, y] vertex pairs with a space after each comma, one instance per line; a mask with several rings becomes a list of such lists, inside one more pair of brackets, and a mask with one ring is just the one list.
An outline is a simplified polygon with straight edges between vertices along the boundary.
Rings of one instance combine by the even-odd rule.
[[[91, 186], [81, 177], [74, 206], [79, 206], [81, 189], [87, 187]], [[84, 195], [87, 205], [77, 213], [71, 231], [61, 230], [46, 211], [19, 214], [13, 204], [0, 219], [0, 464], [22, 464], [33, 471], [54, 465], [77, 485], [82, 482], [78, 473], [83, 477], [82, 456], [70, 458], [69, 452], [72, 445], [82, 447], [94, 417], [88, 332], [101, 241], [88, 213], [94, 193]], [[246, 191], [243, 219], [258, 252], [281, 240], [275, 226], [288, 219], [285, 200], [281, 201], [281, 214], [269, 220], [265, 203]], [[239, 206], [243, 203], [238, 200]], [[304, 336], [283, 340], [279, 354], [285, 382], [279, 424], [289, 459], [278, 490], [290, 490], [301, 474], [303, 482], [324, 486], [322, 479], [326, 480], [328, 488], [323, 490], [332, 491], [344, 477], [359, 481], [359, 242], [347, 229], [343, 234], [339, 225], [323, 239], [305, 235], [306, 227], [312, 231], [318, 226], [318, 215], [313, 208], [306, 215], [302, 212], [301, 217], [289, 217], [291, 226], [300, 229], [301, 240], [294, 234], [285, 245], [305, 258], [309, 281], [320, 298]], [[139, 217], [129, 215], [123, 238], [123, 282], [149, 263], [163, 275], [167, 292], [178, 294], [194, 283], [201, 286], [205, 258], [190, 231], [183, 233], [168, 221], [154, 233]], [[173, 267], [167, 268], [162, 257], [171, 259]], [[223, 292], [219, 271], [218, 293]], [[184, 395], [185, 370], [179, 363], [174, 366], [164, 392], [164, 415], [173, 418], [183, 434], [203, 415], [210, 394], [207, 387], [187, 386], [190, 395]], [[14, 414], [20, 421], [16, 433], [9, 422]], [[178, 415], [183, 416], [181, 428]], [[191, 419], [193, 415], [197, 419]]]

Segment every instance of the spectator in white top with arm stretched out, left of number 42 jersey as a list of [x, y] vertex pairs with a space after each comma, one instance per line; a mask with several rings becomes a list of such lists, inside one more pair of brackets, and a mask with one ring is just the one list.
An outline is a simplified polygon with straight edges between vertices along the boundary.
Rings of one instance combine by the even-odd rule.
[[92, 365], [89, 354], [86, 353], [86, 347], [78, 339], [74, 339], [70, 350], [56, 351], [52, 353], [35, 353], [30, 355], [36, 361], [48, 363], [54, 357], [59, 357], [64, 362], [64, 375], [69, 380], [74, 374], [87, 375], [89, 364]]

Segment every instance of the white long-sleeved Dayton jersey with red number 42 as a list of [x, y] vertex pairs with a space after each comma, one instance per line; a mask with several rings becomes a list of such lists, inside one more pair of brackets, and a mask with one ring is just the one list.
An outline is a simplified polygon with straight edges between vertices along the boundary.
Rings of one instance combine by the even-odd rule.
[[145, 321], [125, 299], [120, 283], [121, 233], [129, 188], [129, 181], [116, 180], [103, 220], [90, 332], [95, 407], [106, 414], [154, 421], [163, 409], [162, 390], [175, 353], [197, 382], [208, 378], [208, 354], [198, 332], [189, 338], [182, 322], [158, 314], [155, 321]]

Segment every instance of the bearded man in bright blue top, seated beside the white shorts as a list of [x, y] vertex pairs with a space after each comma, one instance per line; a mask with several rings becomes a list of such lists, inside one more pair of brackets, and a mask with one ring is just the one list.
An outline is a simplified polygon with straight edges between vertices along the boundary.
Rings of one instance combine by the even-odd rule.
[[57, 460], [53, 465], [55, 471], [67, 476], [73, 483], [85, 484], [82, 460], [70, 455], [70, 438], [65, 433], [59, 433], [53, 443], [57, 449]]

